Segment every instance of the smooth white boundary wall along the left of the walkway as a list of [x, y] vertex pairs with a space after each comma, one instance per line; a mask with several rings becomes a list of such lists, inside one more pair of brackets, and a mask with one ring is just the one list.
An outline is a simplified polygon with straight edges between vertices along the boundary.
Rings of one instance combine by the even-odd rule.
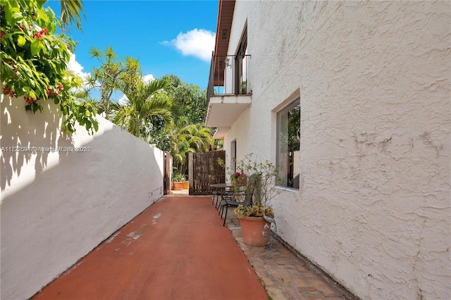
[[1, 96], [1, 147], [90, 151], [1, 153], [2, 300], [32, 296], [163, 195], [159, 149], [100, 117], [95, 135], [68, 137], [24, 103]]

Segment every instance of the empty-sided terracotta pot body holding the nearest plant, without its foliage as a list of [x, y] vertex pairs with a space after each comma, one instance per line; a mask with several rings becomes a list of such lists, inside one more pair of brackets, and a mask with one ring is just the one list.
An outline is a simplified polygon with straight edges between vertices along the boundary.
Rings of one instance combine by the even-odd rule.
[[270, 226], [263, 217], [240, 218], [242, 241], [249, 246], [264, 246], [269, 242]]

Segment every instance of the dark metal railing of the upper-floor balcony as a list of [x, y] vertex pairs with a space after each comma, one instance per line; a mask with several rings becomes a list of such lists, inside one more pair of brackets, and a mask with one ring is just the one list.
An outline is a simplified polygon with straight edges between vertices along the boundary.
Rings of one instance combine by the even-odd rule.
[[250, 94], [249, 73], [250, 55], [227, 55], [211, 57], [207, 101], [214, 95]]

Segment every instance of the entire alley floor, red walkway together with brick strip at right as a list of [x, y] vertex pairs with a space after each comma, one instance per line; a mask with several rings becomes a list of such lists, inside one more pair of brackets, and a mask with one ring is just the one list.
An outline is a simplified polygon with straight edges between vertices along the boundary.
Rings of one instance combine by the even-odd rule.
[[32, 299], [358, 299], [277, 239], [243, 243], [229, 209], [223, 227], [210, 196], [172, 191]]

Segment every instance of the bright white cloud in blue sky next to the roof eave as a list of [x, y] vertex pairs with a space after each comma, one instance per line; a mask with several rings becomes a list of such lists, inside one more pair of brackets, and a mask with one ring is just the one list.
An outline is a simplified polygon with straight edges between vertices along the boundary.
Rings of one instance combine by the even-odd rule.
[[177, 38], [163, 44], [174, 46], [185, 56], [195, 56], [209, 62], [211, 52], [214, 50], [215, 37], [214, 32], [195, 28], [186, 33], [180, 32]]

